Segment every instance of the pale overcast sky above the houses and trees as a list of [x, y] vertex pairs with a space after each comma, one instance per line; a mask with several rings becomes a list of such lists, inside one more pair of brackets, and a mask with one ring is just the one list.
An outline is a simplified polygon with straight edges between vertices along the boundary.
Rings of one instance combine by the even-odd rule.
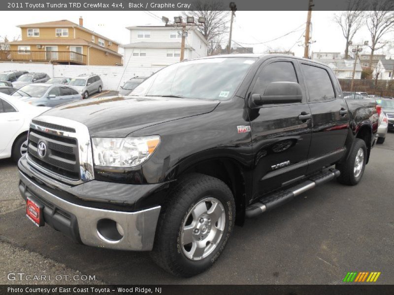
[[[17, 37], [20, 35], [20, 29], [16, 28], [17, 25], [62, 19], [78, 23], [79, 16], [83, 16], [84, 27], [87, 29], [94, 30], [110, 39], [126, 44], [130, 40], [129, 30], [125, 29], [125, 27], [138, 25], [161, 26], [163, 22], [160, 19], [163, 15], [171, 20], [173, 16], [180, 13], [176, 11], [151, 11], [151, 13], [146, 11], [9, 11], [7, 13], [2, 12], [0, 36], [4, 37], [6, 35], [8, 39]], [[345, 39], [341, 29], [332, 22], [334, 13], [332, 11], [312, 12], [312, 40], [316, 42], [312, 44], [311, 52], [343, 53]], [[255, 53], [262, 53], [267, 48], [281, 48], [291, 49], [296, 56], [302, 56], [304, 49], [299, 45], [303, 43], [306, 14], [306, 11], [237, 11], [232, 39], [244, 47], [254, 47]], [[245, 44], [266, 42], [295, 29], [295, 32], [272, 42], [259, 45]], [[386, 39], [391, 40], [393, 38], [394, 33], [386, 37]], [[353, 41], [362, 42], [369, 39], [368, 30], [363, 28], [356, 34]], [[367, 49], [365, 48], [365, 50]], [[393, 48], [387, 47], [383, 51], [394, 58]]]

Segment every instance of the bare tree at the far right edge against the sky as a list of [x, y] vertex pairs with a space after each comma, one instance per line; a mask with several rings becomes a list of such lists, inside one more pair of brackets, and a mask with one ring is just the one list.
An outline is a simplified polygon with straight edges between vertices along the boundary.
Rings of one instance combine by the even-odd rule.
[[373, 54], [376, 50], [382, 49], [389, 41], [383, 37], [394, 30], [394, 1], [393, 0], [372, 0], [372, 10], [368, 12], [366, 26], [371, 35], [371, 49], [369, 57], [369, 67], [372, 66]]

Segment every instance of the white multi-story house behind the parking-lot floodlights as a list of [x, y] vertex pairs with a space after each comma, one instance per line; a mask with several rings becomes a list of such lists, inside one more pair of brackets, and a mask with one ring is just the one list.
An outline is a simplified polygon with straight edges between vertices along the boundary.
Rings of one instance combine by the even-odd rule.
[[[124, 65], [131, 67], [164, 67], [178, 62], [181, 56], [181, 28], [164, 26], [134, 26], [130, 43], [124, 44]], [[196, 27], [187, 27], [184, 59], [207, 55], [208, 42]]]

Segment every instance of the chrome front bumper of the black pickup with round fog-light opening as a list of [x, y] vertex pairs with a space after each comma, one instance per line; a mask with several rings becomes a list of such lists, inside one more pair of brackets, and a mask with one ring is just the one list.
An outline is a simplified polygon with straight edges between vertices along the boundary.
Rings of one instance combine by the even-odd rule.
[[[33, 196], [35, 195], [76, 217], [79, 236], [83, 244], [118, 250], [152, 250], [160, 206], [136, 212], [84, 207], [67, 202], [44, 190], [21, 172], [19, 172], [19, 177]], [[101, 235], [98, 230], [98, 222], [102, 219], [110, 219], [118, 223], [123, 229], [123, 236], [114, 240]]]

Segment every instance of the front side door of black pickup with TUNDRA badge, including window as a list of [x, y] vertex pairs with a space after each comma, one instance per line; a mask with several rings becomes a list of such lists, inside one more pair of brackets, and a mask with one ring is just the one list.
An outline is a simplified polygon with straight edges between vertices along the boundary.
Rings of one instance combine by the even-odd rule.
[[272, 82], [294, 82], [301, 86], [302, 102], [265, 104], [248, 110], [255, 155], [253, 199], [303, 177], [312, 124], [303, 77], [296, 59], [268, 59], [252, 82], [251, 94], [263, 95]]

